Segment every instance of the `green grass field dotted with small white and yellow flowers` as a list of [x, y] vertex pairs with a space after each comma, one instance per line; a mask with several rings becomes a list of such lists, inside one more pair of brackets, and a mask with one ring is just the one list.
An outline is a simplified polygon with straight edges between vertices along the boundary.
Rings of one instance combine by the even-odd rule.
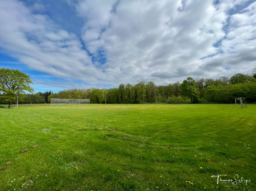
[[0, 190], [256, 190], [248, 106], [0, 108]]

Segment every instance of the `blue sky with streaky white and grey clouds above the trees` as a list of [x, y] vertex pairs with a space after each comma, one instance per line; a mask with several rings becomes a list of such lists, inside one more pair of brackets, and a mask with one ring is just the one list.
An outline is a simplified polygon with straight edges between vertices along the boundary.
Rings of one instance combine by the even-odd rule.
[[112, 88], [256, 67], [256, 0], [0, 0], [0, 68], [35, 92]]

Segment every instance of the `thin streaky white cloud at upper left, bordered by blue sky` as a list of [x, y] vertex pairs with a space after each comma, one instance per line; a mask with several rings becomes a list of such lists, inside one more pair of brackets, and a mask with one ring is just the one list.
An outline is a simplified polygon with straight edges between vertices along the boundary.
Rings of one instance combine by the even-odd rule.
[[47, 15], [34, 15], [21, 2], [6, 1], [2, 6], [0, 16], [5, 19], [0, 20], [0, 39], [9, 54], [32, 69], [53, 76], [97, 83], [93, 76], [99, 71], [81, 48], [78, 37], [58, 30]]

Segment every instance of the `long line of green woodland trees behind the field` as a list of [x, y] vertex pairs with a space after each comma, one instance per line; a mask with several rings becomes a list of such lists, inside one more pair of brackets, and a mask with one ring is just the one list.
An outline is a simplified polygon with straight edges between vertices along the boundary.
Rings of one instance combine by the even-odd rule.
[[[256, 103], [256, 71], [234, 74], [218, 79], [187, 77], [182, 83], [157, 86], [154, 82], [121, 83], [116, 88], [68, 89], [58, 93], [46, 91], [20, 94], [19, 103], [50, 103], [51, 98], [90, 99], [90, 103], [234, 103], [236, 97], [246, 97]], [[0, 103], [5, 103], [0, 97]]]

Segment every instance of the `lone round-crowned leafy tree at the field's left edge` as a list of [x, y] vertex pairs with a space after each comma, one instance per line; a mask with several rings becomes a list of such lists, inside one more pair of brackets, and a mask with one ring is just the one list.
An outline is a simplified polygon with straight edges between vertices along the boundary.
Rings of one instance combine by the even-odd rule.
[[9, 102], [9, 108], [12, 108], [15, 96], [25, 94], [26, 91], [34, 91], [30, 84], [32, 84], [32, 80], [29, 75], [17, 69], [0, 69], [0, 93], [3, 93], [5, 99]]

